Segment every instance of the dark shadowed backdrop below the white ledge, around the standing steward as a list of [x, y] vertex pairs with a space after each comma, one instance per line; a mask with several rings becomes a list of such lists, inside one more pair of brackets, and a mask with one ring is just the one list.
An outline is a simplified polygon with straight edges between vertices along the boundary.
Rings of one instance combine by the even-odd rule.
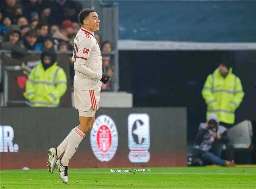
[[194, 140], [205, 121], [204, 82], [224, 54], [233, 57], [245, 93], [236, 123], [256, 120], [256, 51], [119, 51], [120, 90], [132, 92], [133, 107], [187, 107], [188, 139]]

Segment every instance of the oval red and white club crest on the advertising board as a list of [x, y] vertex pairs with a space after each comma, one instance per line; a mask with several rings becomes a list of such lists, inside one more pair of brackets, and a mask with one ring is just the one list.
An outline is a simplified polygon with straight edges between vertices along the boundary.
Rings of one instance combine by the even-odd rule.
[[94, 121], [90, 136], [93, 154], [101, 162], [110, 161], [118, 146], [115, 122], [107, 115], [100, 115]]

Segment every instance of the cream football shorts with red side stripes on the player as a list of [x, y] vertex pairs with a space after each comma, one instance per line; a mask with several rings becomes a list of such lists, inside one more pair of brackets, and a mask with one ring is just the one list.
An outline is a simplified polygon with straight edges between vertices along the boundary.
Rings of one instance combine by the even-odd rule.
[[74, 87], [75, 108], [78, 110], [79, 116], [94, 116], [99, 109], [100, 90], [101, 87], [91, 91], [79, 90]]

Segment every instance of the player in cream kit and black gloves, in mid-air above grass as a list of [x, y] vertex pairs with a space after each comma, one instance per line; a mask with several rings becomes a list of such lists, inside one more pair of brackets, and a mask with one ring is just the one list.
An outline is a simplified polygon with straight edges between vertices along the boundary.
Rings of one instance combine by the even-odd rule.
[[[92, 129], [95, 112], [99, 108], [102, 83], [106, 84], [109, 80], [109, 76], [103, 74], [100, 47], [94, 37], [94, 31], [100, 29], [98, 14], [92, 9], [84, 9], [78, 18], [82, 27], [74, 40], [73, 61], [75, 108], [78, 110], [80, 123], [57, 148], [48, 150], [47, 162], [50, 173], [53, 173], [57, 164], [60, 178], [66, 184], [69, 160], [85, 135]], [[62, 154], [63, 157], [60, 158]]]

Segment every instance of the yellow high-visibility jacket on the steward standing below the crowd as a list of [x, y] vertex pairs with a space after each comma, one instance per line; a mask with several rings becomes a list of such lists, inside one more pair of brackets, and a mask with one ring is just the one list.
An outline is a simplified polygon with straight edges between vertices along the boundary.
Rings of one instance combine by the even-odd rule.
[[26, 93], [32, 107], [58, 107], [66, 91], [67, 76], [57, 62], [46, 70], [39, 62], [26, 82]]

